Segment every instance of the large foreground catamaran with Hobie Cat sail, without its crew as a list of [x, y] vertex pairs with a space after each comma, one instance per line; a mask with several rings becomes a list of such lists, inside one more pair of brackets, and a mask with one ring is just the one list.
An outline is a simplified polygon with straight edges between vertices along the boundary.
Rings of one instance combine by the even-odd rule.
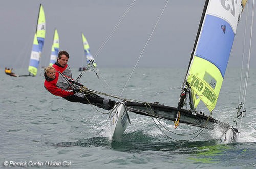
[[[238, 130], [228, 123], [214, 119], [212, 112], [219, 97], [237, 25], [246, 2], [247, 0], [205, 1], [178, 106], [132, 100], [119, 102], [110, 114], [111, 138], [120, 137], [126, 130], [130, 124], [130, 111], [174, 121], [175, 128], [181, 123], [211, 130], [219, 126], [225, 131], [220, 138], [222, 143], [236, 140]], [[209, 110], [209, 116], [197, 111], [200, 101]], [[190, 108], [184, 109], [187, 104]]]

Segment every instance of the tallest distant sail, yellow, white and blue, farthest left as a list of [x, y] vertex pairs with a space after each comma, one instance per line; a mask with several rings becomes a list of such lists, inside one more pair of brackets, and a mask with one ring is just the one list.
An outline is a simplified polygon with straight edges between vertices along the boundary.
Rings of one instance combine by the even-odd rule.
[[33, 76], [36, 76], [37, 74], [42, 47], [44, 46], [45, 35], [46, 35], [45, 12], [44, 12], [44, 8], [40, 4], [38, 19], [37, 19], [37, 29], [34, 36], [33, 47], [32, 47], [32, 52], [30, 56], [29, 68], [28, 68], [28, 71]]

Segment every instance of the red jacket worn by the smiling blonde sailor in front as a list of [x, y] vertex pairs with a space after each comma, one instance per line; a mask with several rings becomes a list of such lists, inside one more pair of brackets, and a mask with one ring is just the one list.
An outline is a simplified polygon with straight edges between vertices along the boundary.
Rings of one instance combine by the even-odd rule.
[[[44, 86], [45, 88], [53, 95], [60, 96], [60, 97], [67, 97], [74, 94], [72, 90], [68, 90], [70, 83], [67, 81], [67, 79], [62, 75], [59, 74], [59, 72], [56, 72], [55, 79], [49, 79], [46, 78]], [[57, 83], [65, 84], [65, 86], [61, 87], [64, 89], [61, 89], [57, 86]], [[66, 90], [65, 90], [66, 89]]]

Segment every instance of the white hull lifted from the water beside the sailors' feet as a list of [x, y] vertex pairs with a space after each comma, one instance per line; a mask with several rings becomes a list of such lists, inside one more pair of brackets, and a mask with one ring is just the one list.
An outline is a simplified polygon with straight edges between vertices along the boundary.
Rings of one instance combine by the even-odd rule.
[[116, 105], [110, 114], [110, 137], [118, 139], [130, 124], [128, 111], [123, 102]]

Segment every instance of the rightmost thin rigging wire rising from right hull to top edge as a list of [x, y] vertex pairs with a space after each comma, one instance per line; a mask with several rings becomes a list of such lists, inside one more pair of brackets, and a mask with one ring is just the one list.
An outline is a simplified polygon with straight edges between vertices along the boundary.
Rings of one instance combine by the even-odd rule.
[[[247, 90], [247, 85], [248, 85], [249, 66], [250, 66], [250, 57], [251, 57], [252, 31], [253, 31], [254, 13], [255, 13], [254, 4], [255, 4], [255, 0], [253, 0], [253, 4], [252, 4], [252, 18], [251, 18], [251, 29], [250, 29], [250, 45], [249, 45], [249, 53], [248, 53], [247, 71], [246, 71], [246, 77], [245, 77], [244, 104], [245, 104], [245, 99], [246, 99], [246, 90]], [[241, 130], [241, 126], [242, 126], [242, 119], [243, 118], [241, 117], [240, 127], [239, 127], [240, 130]]]

